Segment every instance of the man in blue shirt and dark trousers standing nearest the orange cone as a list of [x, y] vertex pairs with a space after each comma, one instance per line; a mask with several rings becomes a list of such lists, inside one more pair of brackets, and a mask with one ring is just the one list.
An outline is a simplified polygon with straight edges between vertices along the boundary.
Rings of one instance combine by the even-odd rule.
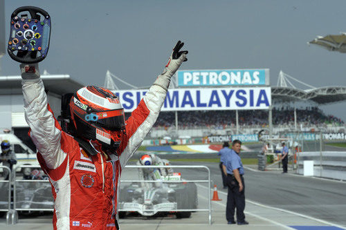
[[235, 209], [237, 208], [237, 224], [248, 224], [245, 220], [245, 184], [244, 167], [239, 157], [242, 142], [234, 140], [232, 142], [231, 154], [226, 155], [224, 173], [227, 174], [227, 206], [226, 219], [228, 224], [235, 224]]

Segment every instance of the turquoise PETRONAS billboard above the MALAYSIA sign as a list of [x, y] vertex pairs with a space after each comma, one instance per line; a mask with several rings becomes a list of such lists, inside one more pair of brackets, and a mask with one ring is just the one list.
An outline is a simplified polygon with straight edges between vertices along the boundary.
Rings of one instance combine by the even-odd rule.
[[269, 69], [179, 70], [178, 86], [269, 86]]

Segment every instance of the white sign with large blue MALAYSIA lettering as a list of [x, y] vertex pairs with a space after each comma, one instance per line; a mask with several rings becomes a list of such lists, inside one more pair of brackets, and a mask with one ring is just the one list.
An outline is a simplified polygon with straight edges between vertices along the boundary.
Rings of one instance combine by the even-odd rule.
[[[137, 107], [147, 90], [119, 90], [124, 111]], [[215, 111], [268, 109], [270, 87], [246, 88], [178, 88], [169, 89], [161, 111]]]

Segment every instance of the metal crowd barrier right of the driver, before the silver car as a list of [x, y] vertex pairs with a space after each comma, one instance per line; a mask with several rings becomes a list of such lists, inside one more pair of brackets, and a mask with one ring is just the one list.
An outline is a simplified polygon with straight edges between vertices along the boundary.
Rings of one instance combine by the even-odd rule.
[[[177, 165], [169, 165], [169, 166], [138, 166], [138, 165], [128, 165], [125, 166], [125, 169], [148, 169], [148, 168], [167, 168], [167, 169], [206, 169], [208, 172], [208, 180], [179, 180], [179, 181], [162, 181], [164, 183], [182, 183], [182, 182], [188, 182], [188, 183], [208, 183], [208, 209], [167, 209], [167, 210], [160, 210], [160, 211], [208, 211], [209, 216], [209, 224], [212, 224], [212, 204], [211, 204], [211, 179], [210, 179], [210, 169], [207, 166], [177, 166]], [[158, 182], [157, 180], [120, 180], [120, 182]], [[119, 209], [119, 211], [134, 211], [134, 210], [127, 210], [127, 209]], [[154, 209], [146, 209], [145, 211], [157, 211]]]

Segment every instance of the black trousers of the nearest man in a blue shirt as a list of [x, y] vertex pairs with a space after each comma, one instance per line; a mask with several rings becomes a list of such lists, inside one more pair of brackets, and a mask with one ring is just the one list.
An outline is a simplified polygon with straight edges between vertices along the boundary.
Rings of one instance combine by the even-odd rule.
[[227, 221], [235, 220], [235, 209], [237, 209], [237, 222], [244, 222], [245, 215], [245, 183], [244, 178], [241, 176], [244, 189], [239, 192], [239, 183], [233, 175], [227, 175], [227, 206], [226, 206], [226, 219]]

